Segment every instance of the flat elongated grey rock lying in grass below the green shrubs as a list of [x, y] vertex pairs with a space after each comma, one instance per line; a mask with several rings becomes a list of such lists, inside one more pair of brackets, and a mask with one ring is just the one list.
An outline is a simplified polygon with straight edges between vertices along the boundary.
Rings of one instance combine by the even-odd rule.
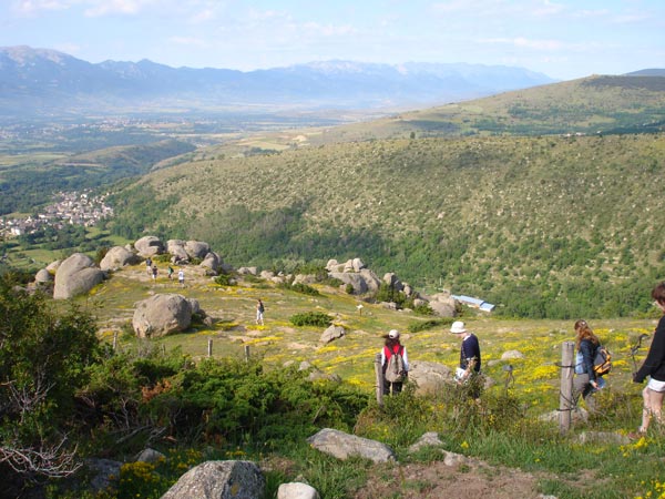
[[338, 459], [347, 459], [359, 456], [374, 462], [387, 462], [395, 460], [395, 452], [386, 444], [356, 437], [331, 428], [324, 428], [313, 435], [307, 441], [315, 449], [335, 456]]

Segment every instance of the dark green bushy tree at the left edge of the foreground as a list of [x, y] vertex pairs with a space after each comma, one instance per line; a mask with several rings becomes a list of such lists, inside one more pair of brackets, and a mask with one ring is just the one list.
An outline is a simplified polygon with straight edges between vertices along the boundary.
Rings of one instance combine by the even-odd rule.
[[0, 475], [8, 482], [64, 477], [79, 468], [74, 394], [99, 352], [92, 317], [58, 312], [42, 294], [0, 278]]

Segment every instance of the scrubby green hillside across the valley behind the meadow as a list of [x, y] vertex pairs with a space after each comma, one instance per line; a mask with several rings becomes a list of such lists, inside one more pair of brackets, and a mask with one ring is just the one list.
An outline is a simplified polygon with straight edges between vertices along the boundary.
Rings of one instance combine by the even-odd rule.
[[236, 265], [360, 256], [509, 315], [620, 316], [665, 275], [664, 152], [651, 134], [206, 151], [120, 191], [112, 224], [204, 240]]

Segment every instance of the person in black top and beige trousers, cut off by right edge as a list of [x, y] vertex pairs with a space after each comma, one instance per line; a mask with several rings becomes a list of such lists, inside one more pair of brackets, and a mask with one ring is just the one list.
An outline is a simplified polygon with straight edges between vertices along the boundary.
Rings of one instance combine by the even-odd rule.
[[637, 439], [648, 429], [652, 417], [663, 422], [663, 398], [665, 397], [665, 282], [656, 285], [652, 291], [655, 305], [663, 312], [658, 320], [651, 347], [642, 367], [633, 375], [633, 381], [642, 383], [649, 376], [646, 387], [642, 391], [644, 408], [642, 409], [642, 425], [636, 434], [628, 434], [632, 439]]

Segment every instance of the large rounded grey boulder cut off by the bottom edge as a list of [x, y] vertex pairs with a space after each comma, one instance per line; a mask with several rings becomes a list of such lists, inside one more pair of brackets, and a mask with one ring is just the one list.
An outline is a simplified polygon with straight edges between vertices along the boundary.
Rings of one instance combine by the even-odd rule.
[[162, 499], [257, 499], [265, 485], [252, 461], [206, 461], [183, 475]]

